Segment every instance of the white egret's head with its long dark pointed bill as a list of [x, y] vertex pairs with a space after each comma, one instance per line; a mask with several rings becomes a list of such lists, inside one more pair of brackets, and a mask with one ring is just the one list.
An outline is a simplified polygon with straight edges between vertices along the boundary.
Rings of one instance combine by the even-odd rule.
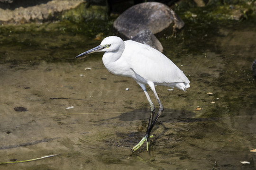
[[94, 47], [91, 50], [85, 51], [81, 54], [79, 54], [78, 56], [76, 56], [75, 58], [78, 57], [82, 57], [88, 54], [91, 54], [93, 52], [115, 52], [118, 51], [120, 46], [122, 46], [124, 44], [123, 40], [117, 36], [109, 36], [104, 38], [104, 40], [102, 40], [101, 44], [98, 45], [97, 47]]

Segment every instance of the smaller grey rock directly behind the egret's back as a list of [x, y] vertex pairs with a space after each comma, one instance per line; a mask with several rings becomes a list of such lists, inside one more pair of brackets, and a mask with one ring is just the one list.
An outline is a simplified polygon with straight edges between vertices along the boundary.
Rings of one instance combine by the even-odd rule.
[[161, 42], [158, 41], [158, 39], [150, 30], [142, 30], [130, 40], [150, 45], [151, 47], [160, 52], [163, 52], [164, 49]]

